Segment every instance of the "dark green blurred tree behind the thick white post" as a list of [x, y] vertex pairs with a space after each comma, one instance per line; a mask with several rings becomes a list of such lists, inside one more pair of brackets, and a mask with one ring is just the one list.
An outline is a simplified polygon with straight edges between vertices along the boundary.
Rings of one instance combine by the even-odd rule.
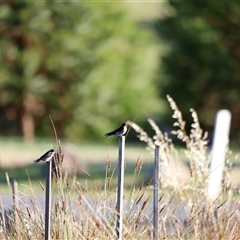
[[170, 94], [189, 121], [195, 108], [207, 129], [217, 110], [229, 109], [240, 138], [240, 2], [169, 2], [171, 14], [156, 24], [167, 45], [161, 96]]

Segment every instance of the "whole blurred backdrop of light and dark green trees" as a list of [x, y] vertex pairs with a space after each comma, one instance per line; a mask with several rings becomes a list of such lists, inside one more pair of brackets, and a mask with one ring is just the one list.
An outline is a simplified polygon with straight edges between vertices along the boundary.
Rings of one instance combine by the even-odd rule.
[[239, 9], [231, 1], [1, 3], [0, 134], [49, 137], [48, 114], [67, 139], [148, 117], [168, 129], [170, 94], [210, 132], [216, 111], [228, 108], [238, 140]]

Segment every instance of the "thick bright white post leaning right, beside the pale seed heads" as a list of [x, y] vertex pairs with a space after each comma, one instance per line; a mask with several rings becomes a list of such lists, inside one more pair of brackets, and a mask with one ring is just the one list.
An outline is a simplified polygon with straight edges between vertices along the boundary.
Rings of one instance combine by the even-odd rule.
[[220, 110], [216, 116], [210, 175], [208, 183], [208, 196], [214, 200], [221, 191], [226, 147], [230, 130], [231, 113], [228, 110]]

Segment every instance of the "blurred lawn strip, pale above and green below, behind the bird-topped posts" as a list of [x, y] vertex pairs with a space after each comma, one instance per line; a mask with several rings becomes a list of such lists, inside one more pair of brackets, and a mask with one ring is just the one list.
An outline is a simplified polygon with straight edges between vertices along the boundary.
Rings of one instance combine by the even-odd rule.
[[[102, 181], [105, 178], [106, 161], [111, 160], [111, 172], [113, 172], [113, 182], [117, 179], [117, 138], [116, 145], [96, 145], [86, 143], [68, 143], [63, 142], [62, 147], [76, 156], [77, 161], [87, 173], [77, 173], [77, 179], [79, 181], [87, 180], [89, 185], [92, 186], [96, 181]], [[127, 145], [129, 145], [126, 142]], [[6, 183], [6, 173], [9, 176], [10, 181], [15, 179], [19, 183], [27, 183], [28, 179], [34, 186], [39, 181], [44, 182], [45, 176], [45, 164], [34, 164], [33, 160], [41, 156], [45, 151], [51, 147], [55, 147], [54, 140], [36, 140], [33, 142], [24, 142], [17, 138], [0, 138], [0, 156], [1, 156], [1, 168], [0, 168], [0, 184]], [[135, 163], [138, 158], [143, 160], [144, 170], [139, 178], [139, 183], [146, 181], [152, 172], [152, 154], [141, 146], [130, 145], [125, 152], [126, 155], [126, 172], [125, 180], [126, 187], [131, 183], [131, 178], [134, 172]], [[64, 162], [68, 161], [66, 158]], [[74, 165], [71, 166], [74, 168]]]

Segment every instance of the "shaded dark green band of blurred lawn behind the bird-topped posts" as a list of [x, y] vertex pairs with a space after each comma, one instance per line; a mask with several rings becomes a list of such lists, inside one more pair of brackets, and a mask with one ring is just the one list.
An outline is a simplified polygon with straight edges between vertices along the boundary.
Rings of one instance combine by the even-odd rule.
[[[76, 180], [84, 184], [88, 182], [88, 186], [92, 187], [94, 184], [101, 183], [103, 188], [104, 179], [106, 174], [106, 163], [91, 163], [88, 166], [88, 174], [77, 174]], [[128, 163], [125, 171], [125, 187], [129, 189], [132, 184], [132, 178], [134, 174], [135, 163]], [[2, 168], [0, 170], [0, 186], [1, 189], [5, 189], [4, 186], [7, 184], [7, 178], [10, 182], [16, 180], [21, 185], [29, 185], [29, 179], [31, 179], [32, 189], [35, 191], [38, 189], [38, 182], [45, 182], [45, 164], [30, 164], [27, 166], [21, 166], [17, 168]], [[147, 182], [152, 174], [152, 164], [150, 162], [143, 164], [143, 171], [137, 177], [137, 185], [140, 185], [143, 181]], [[113, 185], [116, 187], [117, 184], [117, 163], [111, 163], [111, 169], [109, 170], [108, 177], [111, 177]]]

